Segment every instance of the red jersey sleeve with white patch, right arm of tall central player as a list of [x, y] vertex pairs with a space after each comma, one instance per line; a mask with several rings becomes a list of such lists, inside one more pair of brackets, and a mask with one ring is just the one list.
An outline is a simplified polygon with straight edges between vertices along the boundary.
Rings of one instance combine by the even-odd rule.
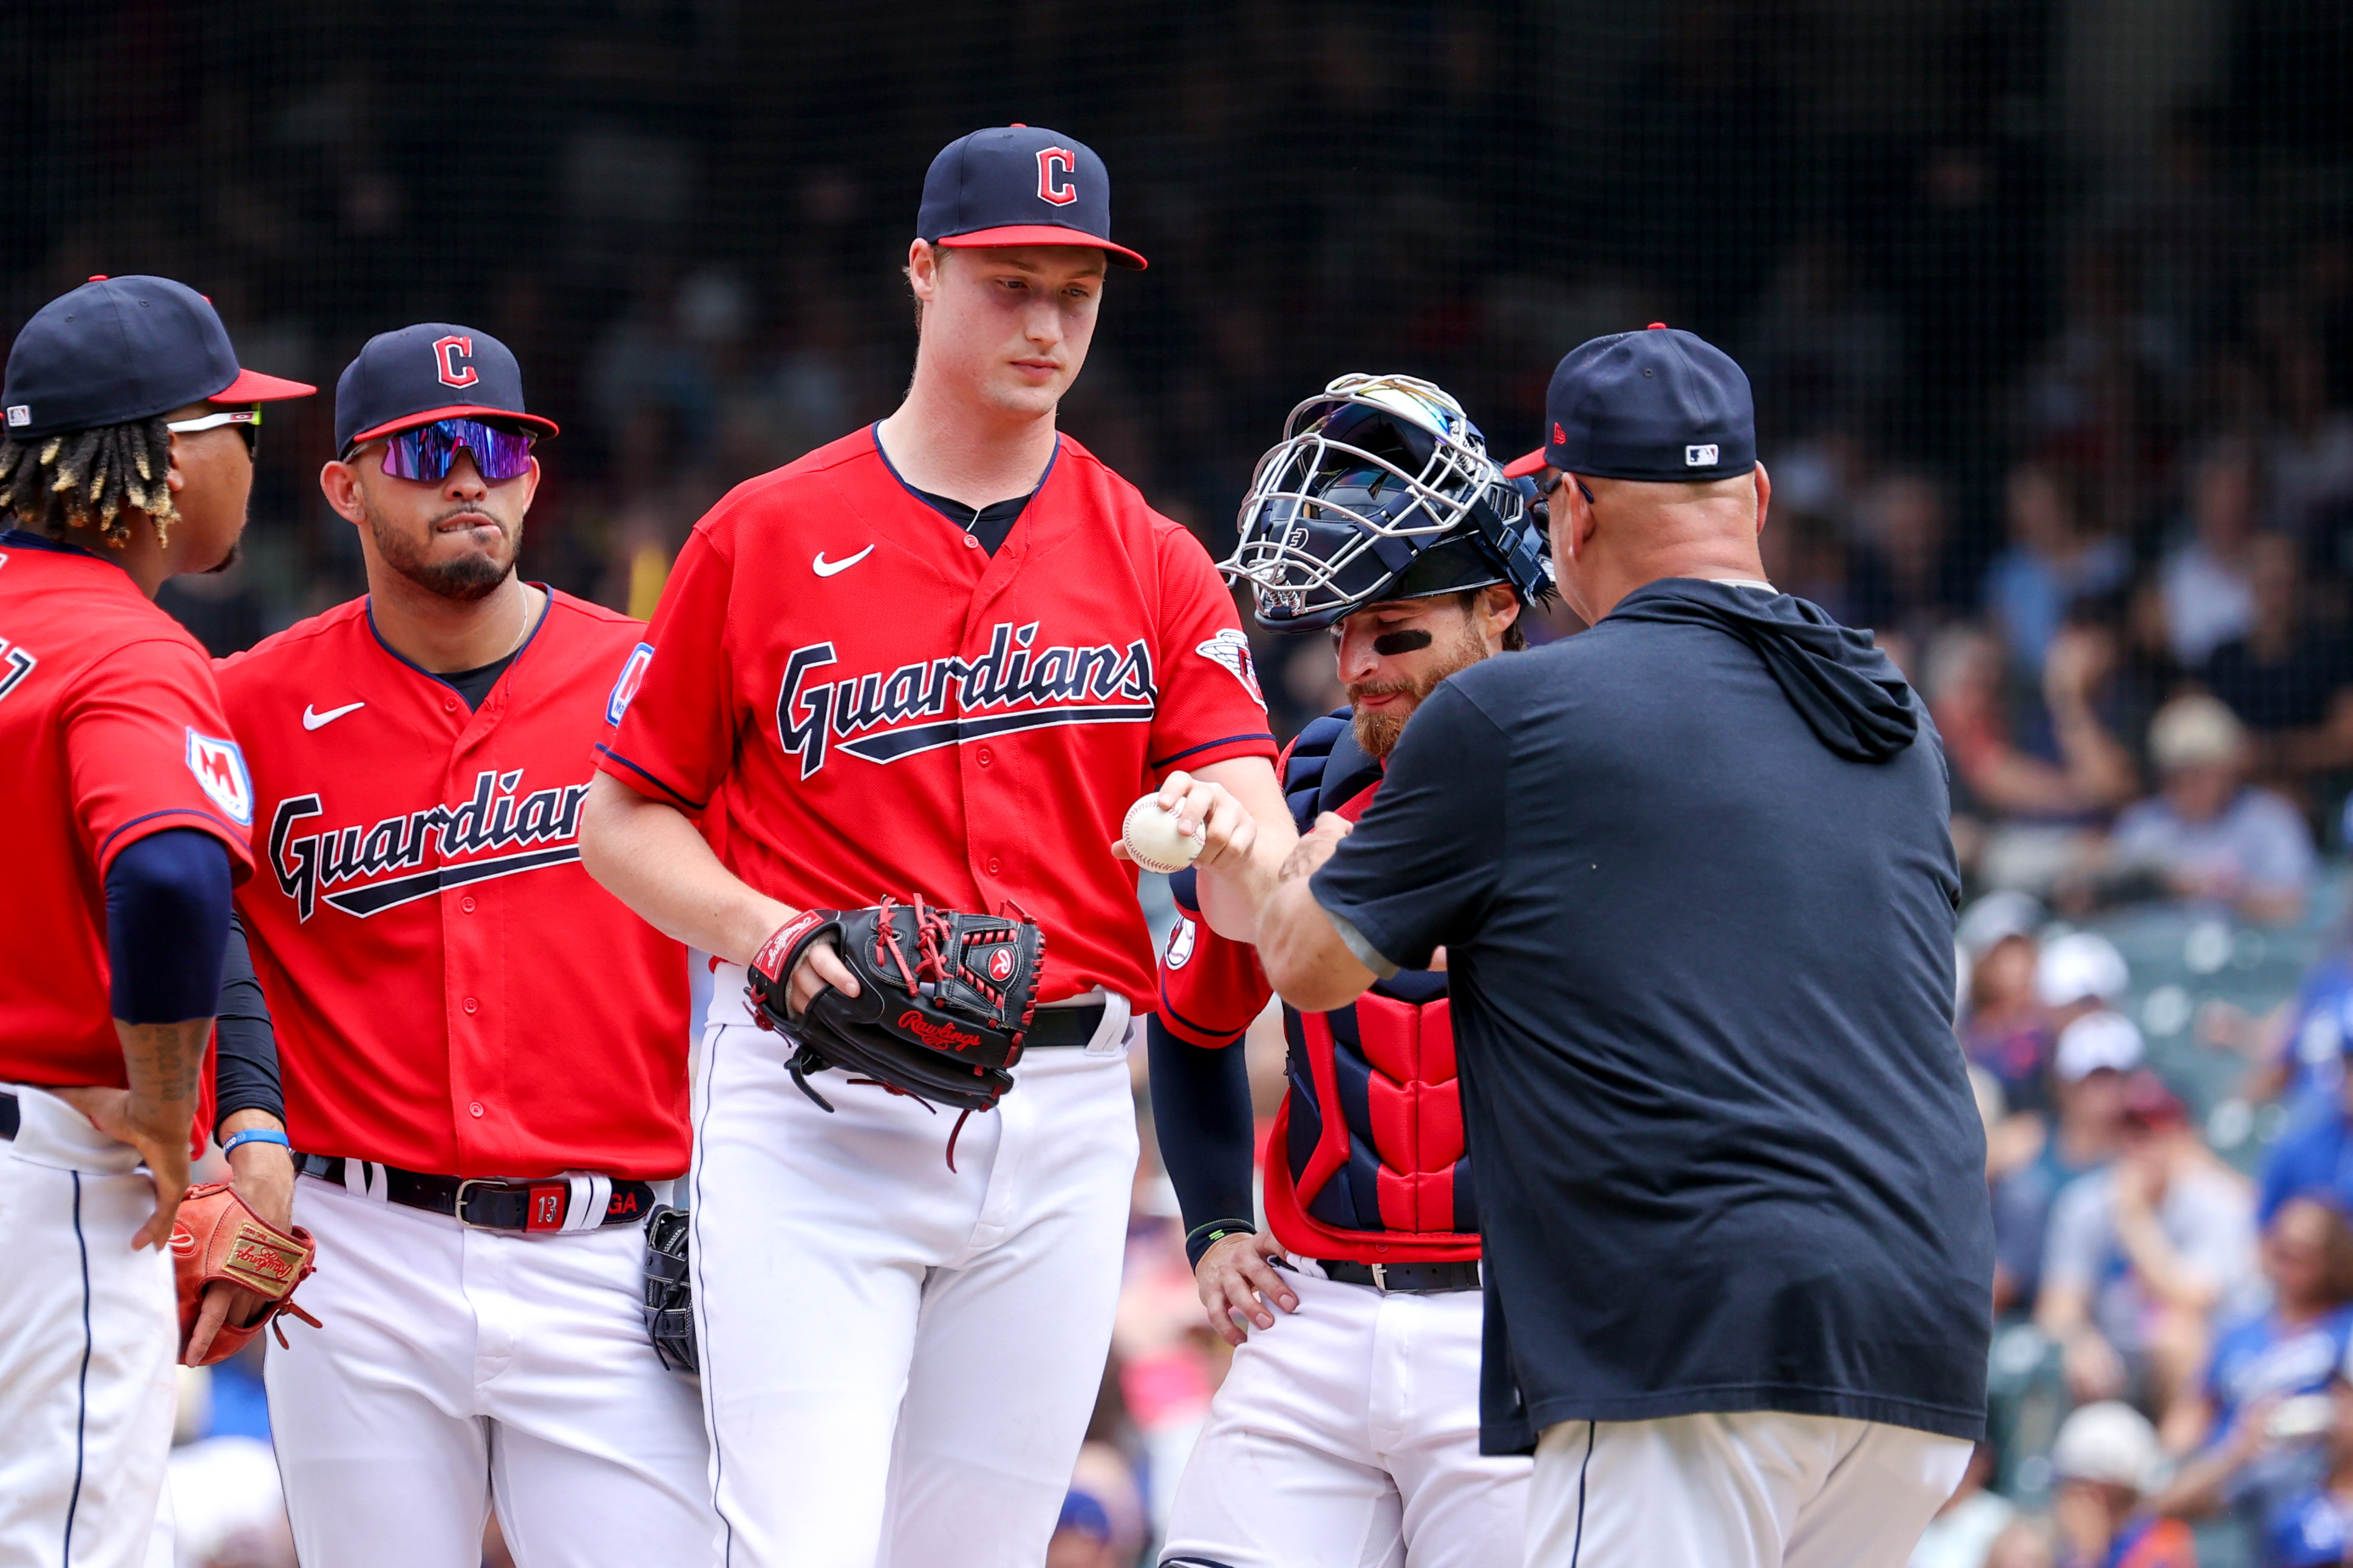
[[1200, 541], [1179, 527], [1160, 538], [1160, 710], [1151, 766], [1198, 769], [1228, 757], [1275, 755], [1266, 693], [1249, 637]]

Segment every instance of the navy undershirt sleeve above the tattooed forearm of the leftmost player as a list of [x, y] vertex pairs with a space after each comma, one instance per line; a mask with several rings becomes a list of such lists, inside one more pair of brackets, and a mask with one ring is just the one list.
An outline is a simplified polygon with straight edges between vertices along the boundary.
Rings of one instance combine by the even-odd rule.
[[228, 849], [202, 827], [132, 839], [106, 867], [106, 966], [122, 1023], [212, 1018], [228, 947]]

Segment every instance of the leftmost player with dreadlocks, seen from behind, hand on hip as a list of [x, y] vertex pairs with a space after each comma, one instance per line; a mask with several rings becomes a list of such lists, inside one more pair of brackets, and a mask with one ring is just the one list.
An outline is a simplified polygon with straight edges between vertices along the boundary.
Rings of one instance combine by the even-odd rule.
[[[151, 602], [245, 529], [261, 404], [165, 277], [42, 306], [0, 393], [0, 1561], [141, 1563], [158, 1537], [179, 1347], [165, 1244], [188, 1190], [254, 795], [205, 651]], [[275, 1128], [226, 1098], [219, 1131]], [[278, 1225], [285, 1150], [231, 1152]], [[153, 1251], [148, 1251], [153, 1248]], [[214, 1326], [219, 1319], [214, 1319]], [[209, 1340], [209, 1328], [205, 1331]]]

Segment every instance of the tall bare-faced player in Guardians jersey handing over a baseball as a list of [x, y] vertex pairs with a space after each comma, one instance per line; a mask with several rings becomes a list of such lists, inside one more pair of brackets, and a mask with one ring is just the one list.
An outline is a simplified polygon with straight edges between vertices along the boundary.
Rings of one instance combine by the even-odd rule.
[[[1160, 785], [1202, 835], [1219, 917], [1254, 907], [1245, 882], [1294, 837], [1207, 552], [1054, 428], [1106, 263], [1144, 266], [1108, 195], [1104, 162], [1049, 129], [939, 153], [906, 402], [696, 524], [588, 797], [595, 877], [720, 959], [692, 1260], [736, 1568], [1042, 1561], [1111, 1340], [1122, 1060], [1153, 992], [1111, 839]], [[1202, 778], [1226, 785], [1209, 818]], [[842, 1070], [802, 1093], [791, 1041], [746, 1009], [746, 961], [795, 912], [882, 898], [1045, 931], [1014, 1088], [953, 1168], [953, 1114]], [[800, 1009], [856, 990], [826, 945], [772, 978]]]

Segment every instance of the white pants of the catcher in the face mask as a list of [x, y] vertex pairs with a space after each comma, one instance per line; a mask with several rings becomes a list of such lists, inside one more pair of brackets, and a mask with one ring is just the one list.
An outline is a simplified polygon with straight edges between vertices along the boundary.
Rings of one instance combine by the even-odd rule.
[[1529, 1462], [1478, 1450], [1480, 1293], [1294, 1276], [1252, 1326], [1169, 1509], [1162, 1568], [1499, 1568]]

